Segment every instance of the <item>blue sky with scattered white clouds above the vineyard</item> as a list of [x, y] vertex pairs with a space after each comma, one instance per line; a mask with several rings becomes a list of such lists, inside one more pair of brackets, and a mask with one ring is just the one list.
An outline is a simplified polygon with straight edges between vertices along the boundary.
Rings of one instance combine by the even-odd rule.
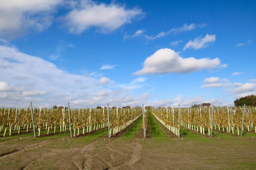
[[0, 107], [232, 106], [256, 1], [0, 0]]

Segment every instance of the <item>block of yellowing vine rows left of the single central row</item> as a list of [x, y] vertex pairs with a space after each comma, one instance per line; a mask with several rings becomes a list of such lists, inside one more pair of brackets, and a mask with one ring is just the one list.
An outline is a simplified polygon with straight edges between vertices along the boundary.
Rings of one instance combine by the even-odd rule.
[[[142, 109], [31, 109], [1, 108], [0, 132], [2, 136], [28, 133], [34, 130], [34, 136], [41, 131], [70, 131], [71, 137], [87, 134], [109, 127], [109, 137], [128, 127], [142, 115]], [[109, 125], [109, 126], [108, 126]], [[73, 131], [73, 134], [72, 134]]]

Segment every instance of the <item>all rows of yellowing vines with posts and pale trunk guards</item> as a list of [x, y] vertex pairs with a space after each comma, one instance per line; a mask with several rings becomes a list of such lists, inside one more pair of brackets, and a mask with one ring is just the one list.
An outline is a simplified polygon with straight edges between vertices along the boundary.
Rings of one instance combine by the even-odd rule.
[[[144, 138], [148, 127], [148, 113], [142, 108], [105, 109], [39, 109], [1, 108], [0, 133], [12, 136], [14, 133], [29, 133], [35, 136], [73, 131], [71, 137], [108, 128], [109, 137], [117, 134], [136, 121], [141, 115]], [[70, 113], [69, 113], [70, 112]], [[33, 116], [32, 116], [33, 114]], [[158, 108], [152, 114], [168, 130], [180, 137], [180, 127], [208, 134], [212, 130], [242, 134], [242, 130], [256, 133], [256, 108], [254, 107], [211, 107], [211, 108]], [[34, 128], [33, 128], [34, 127]], [[243, 128], [242, 128], [243, 127]], [[50, 133], [51, 132], [51, 133]]]

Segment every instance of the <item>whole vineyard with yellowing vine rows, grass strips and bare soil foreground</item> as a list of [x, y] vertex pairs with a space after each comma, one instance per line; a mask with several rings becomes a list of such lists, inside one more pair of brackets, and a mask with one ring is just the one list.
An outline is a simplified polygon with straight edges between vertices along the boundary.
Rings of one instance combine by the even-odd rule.
[[6, 169], [255, 169], [255, 124], [255, 107], [3, 107], [0, 162]]

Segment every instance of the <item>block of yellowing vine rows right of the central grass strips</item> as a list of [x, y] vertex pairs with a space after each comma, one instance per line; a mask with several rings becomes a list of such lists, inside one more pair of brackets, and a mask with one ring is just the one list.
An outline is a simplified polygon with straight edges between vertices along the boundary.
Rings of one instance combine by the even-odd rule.
[[212, 107], [212, 108], [161, 108], [153, 109], [153, 115], [168, 130], [180, 137], [180, 127], [201, 134], [212, 130], [242, 135], [242, 130], [256, 133], [256, 107]]

